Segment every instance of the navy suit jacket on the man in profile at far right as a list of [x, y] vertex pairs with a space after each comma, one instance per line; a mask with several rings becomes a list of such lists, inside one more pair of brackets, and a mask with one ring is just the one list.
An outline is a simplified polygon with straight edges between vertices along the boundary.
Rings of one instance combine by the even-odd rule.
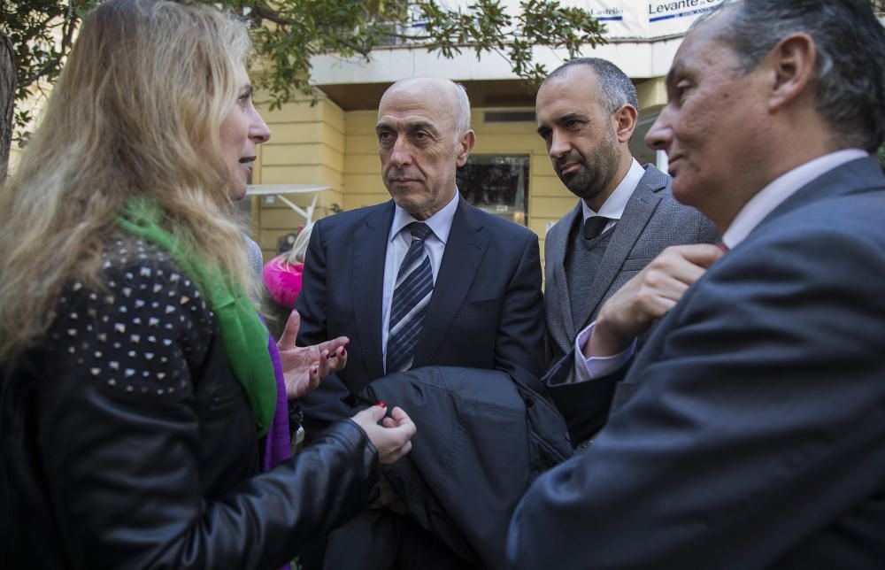
[[885, 567], [882, 220], [851, 161], [712, 266], [524, 497], [512, 567]]

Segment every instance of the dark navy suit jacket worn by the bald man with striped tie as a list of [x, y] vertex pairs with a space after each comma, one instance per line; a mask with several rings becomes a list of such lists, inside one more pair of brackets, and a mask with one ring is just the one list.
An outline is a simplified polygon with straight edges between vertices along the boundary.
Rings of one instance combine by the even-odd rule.
[[[302, 400], [308, 429], [350, 415], [342, 402], [384, 374], [381, 297], [394, 203], [319, 220], [304, 262], [298, 344], [350, 337], [347, 366]], [[452, 220], [412, 367], [466, 366], [540, 375], [541, 261], [526, 227], [462, 198]], [[312, 423], [316, 422], [316, 423]]]

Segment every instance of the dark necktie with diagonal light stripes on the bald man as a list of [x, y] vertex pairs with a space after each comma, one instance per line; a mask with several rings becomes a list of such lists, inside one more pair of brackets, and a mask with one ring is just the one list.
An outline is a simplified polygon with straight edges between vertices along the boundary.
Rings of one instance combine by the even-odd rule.
[[390, 304], [390, 327], [387, 350], [387, 373], [403, 372], [412, 367], [415, 345], [424, 324], [427, 305], [434, 292], [434, 273], [424, 240], [430, 235], [427, 224], [412, 222], [412, 244], [396, 274], [393, 301]]

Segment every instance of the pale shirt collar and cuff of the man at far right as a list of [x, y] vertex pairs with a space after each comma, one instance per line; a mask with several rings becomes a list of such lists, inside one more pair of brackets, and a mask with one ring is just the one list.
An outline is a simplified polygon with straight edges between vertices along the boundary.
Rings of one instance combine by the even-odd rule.
[[[789, 196], [796, 194], [805, 184], [818, 178], [821, 174], [833, 170], [837, 166], [842, 166], [846, 162], [866, 156], [868, 155], [865, 150], [837, 150], [822, 157], [809, 160], [804, 165], [797, 166], [788, 173], [781, 174], [764, 189], [759, 190], [756, 196], [750, 198], [750, 201], [744, 204], [741, 211], [737, 212], [735, 220], [732, 221], [725, 234], [722, 235], [722, 242], [727, 245], [728, 249], [735, 248], [739, 243], [743, 242], [747, 235], [750, 235], [750, 232], [762, 220], [766, 219], [768, 214], [786, 201]], [[584, 358], [582, 350], [589, 342], [594, 327], [596, 327], [596, 321], [590, 323], [575, 338], [575, 381], [587, 381], [612, 374], [612, 372], [627, 364], [627, 361], [636, 351], [636, 341], [634, 339], [633, 344], [619, 354], [610, 357]]]

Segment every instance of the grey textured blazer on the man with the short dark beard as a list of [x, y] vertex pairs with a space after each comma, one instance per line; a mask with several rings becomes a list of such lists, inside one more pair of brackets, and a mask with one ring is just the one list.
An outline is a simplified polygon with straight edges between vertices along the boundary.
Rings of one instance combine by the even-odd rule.
[[[642, 180], [614, 227], [593, 288], [581, 298], [569, 298], [565, 266], [570, 232], [577, 231], [583, 219], [581, 203], [550, 228], [544, 243], [544, 310], [547, 314], [549, 364], [571, 350], [574, 337], [596, 317], [604, 301], [666, 247], [719, 241], [719, 231], [712, 221], [673, 198], [670, 182], [665, 173], [654, 166], [645, 166]], [[573, 304], [580, 305], [581, 314], [586, 315], [581, 322], [573, 322]]]

